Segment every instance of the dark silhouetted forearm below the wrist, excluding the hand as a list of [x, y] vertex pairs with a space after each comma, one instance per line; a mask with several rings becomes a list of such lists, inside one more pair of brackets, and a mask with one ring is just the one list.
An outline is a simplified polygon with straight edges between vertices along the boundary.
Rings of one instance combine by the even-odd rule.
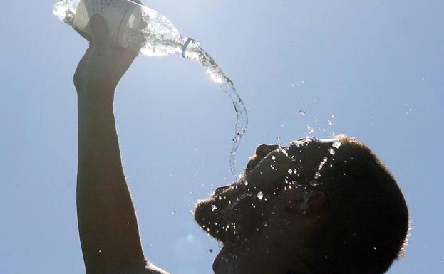
[[120, 159], [113, 90], [78, 92], [77, 181], [78, 226], [87, 273], [143, 267], [137, 218]]

